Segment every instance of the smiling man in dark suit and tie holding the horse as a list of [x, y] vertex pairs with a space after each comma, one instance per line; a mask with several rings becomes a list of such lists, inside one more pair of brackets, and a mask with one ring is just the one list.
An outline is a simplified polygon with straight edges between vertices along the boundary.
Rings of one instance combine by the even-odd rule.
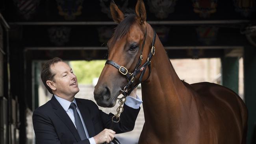
[[72, 69], [62, 59], [47, 61], [41, 79], [53, 96], [33, 112], [33, 127], [38, 144], [109, 143], [115, 133], [134, 128], [142, 103], [137, 99], [136, 90], [126, 98], [121, 120], [111, 130], [113, 114], [102, 112], [91, 100], [74, 98], [79, 91], [78, 82]]

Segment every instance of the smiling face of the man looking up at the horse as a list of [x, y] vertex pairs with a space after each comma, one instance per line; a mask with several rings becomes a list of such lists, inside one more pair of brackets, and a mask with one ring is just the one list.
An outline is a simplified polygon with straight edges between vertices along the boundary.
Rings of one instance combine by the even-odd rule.
[[66, 63], [60, 61], [51, 66], [54, 76], [54, 86], [56, 90], [54, 94], [60, 97], [71, 98], [78, 92], [78, 83], [76, 75], [74, 75], [72, 69]]

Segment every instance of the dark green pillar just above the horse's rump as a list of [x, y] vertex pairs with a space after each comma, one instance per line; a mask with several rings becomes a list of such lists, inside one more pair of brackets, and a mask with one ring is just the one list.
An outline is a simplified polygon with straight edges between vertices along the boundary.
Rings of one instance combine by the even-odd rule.
[[221, 58], [221, 65], [223, 86], [232, 89], [238, 94], [239, 58], [223, 57]]

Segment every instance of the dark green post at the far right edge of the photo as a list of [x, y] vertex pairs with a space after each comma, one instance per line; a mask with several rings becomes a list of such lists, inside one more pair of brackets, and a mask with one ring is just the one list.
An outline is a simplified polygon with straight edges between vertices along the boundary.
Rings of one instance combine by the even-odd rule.
[[256, 125], [256, 48], [244, 51], [245, 104], [249, 111], [247, 144], [255, 144]]

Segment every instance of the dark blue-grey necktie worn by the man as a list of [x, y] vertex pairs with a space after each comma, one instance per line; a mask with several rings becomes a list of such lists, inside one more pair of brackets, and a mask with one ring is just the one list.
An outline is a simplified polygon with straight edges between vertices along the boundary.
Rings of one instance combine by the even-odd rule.
[[73, 109], [73, 112], [74, 112], [74, 117], [75, 117], [75, 124], [76, 124], [76, 129], [77, 129], [77, 132], [81, 138], [81, 140], [84, 140], [86, 139], [86, 134], [85, 134], [85, 131], [84, 131], [84, 128], [83, 128], [83, 123], [81, 121], [81, 118], [76, 110], [76, 104], [75, 103], [71, 103], [70, 106], [69, 106], [71, 109]]

